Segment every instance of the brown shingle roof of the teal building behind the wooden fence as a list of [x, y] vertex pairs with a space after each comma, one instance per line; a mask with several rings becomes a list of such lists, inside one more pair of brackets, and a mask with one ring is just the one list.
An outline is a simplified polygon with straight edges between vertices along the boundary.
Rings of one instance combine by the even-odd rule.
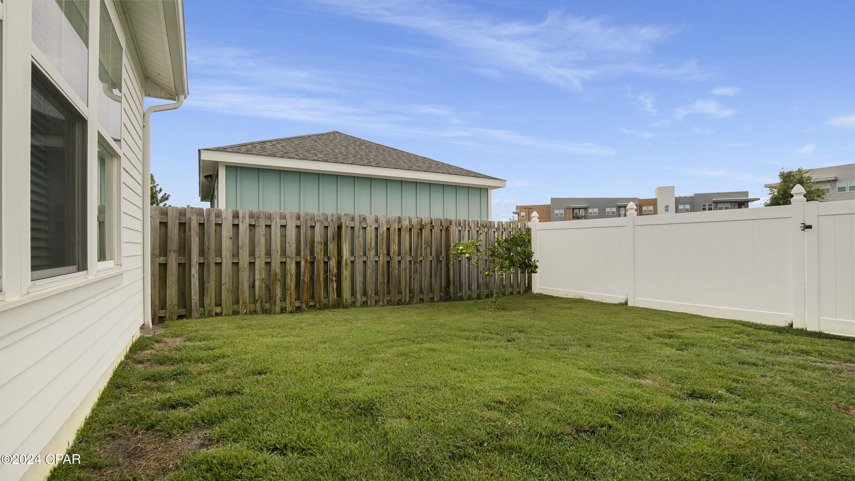
[[204, 150], [497, 179], [337, 131], [225, 145]]

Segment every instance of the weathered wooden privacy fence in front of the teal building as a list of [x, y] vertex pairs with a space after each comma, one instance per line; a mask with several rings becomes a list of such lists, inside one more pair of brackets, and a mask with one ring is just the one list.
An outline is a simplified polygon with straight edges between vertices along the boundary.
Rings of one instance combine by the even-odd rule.
[[[486, 262], [449, 265], [451, 244], [524, 223], [151, 206], [151, 317], [292, 313], [297, 308], [439, 302], [522, 293]], [[189, 254], [189, 255], [188, 255]]]

